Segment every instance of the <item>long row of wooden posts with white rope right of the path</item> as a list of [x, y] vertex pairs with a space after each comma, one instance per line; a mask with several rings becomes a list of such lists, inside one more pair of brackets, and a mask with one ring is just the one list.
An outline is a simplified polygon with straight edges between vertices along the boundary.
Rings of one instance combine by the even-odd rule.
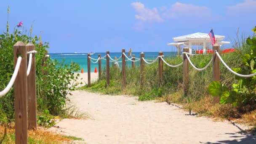
[[[214, 45], [213, 46], [213, 51], [214, 53], [212, 54], [212, 58], [211, 60], [208, 62], [208, 64], [205, 65], [205, 67], [203, 68], [197, 68], [192, 61], [190, 60], [189, 56], [190, 54], [189, 52], [189, 48], [184, 48], [183, 49], [183, 53], [182, 53], [182, 59], [183, 61], [180, 64], [177, 65], [171, 65], [168, 64], [168, 62], [165, 61], [164, 59], [164, 55], [163, 52], [159, 52], [159, 56], [157, 56], [156, 59], [154, 60], [149, 60], [149, 59], [145, 59], [144, 58], [144, 53], [141, 53], [141, 57], [140, 58], [136, 58], [135, 55], [132, 55], [130, 58], [125, 54], [125, 50], [122, 50], [122, 54], [118, 59], [112, 59], [111, 56], [109, 55], [109, 51], [107, 51], [106, 55], [104, 57], [107, 56], [107, 59], [104, 59], [104, 57], [99, 57], [98, 59], [93, 59], [90, 57], [90, 55], [88, 55], [88, 61], [93, 62], [94, 64], [96, 64], [97, 62], [99, 62], [99, 59], [103, 59], [105, 61], [107, 61], [107, 86], [109, 86], [109, 62], [117, 62], [117, 63], [122, 63], [122, 88], [125, 88], [126, 86], [126, 82], [125, 82], [125, 63], [127, 61], [131, 61], [132, 62], [132, 68], [135, 67], [135, 62], [140, 61], [140, 82], [141, 82], [141, 86], [143, 86], [143, 81], [144, 81], [144, 63], [146, 64], [153, 64], [155, 63], [157, 60], [158, 62], [158, 75], [159, 75], [159, 81], [163, 80], [163, 63], [165, 63], [168, 67], [179, 67], [181, 65], [183, 65], [183, 96], [187, 96], [188, 94], [188, 88], [189, 88], [189, 64], [196, 69], [197, 71], [203, 71], [205, 69], [207, 69], [211, 64], [213, 67], [213, 81], [220, 81], [220, 70], [219, 70], [219, 61], [222, 62], [222, 64], [224, 64], [224, 66], [233, 74], [239, 76], [239, 77], [253, 77], [256, 75], [256, 73], [250, 74], [250, 75], [241, 75], [238, 74], [237, 72], [234, 72], [230, 67], [227, 66], [227, 64], [224, 62], [224, 60], [221, 58], [221, 56], [219, 55], [218, 51], [219, 51], [219, 45]], [[119, 59], [122, 58], [122, 61], [118, 61]], [[96, 60], [96, 61], [92, 61]], [[151, 61], [151, 62], [149, 62]], [[88, 69], [90, 69], [90, 67], [88, 67]], [[101, 69], [101, 64], [99, 65], [99, 69]], [[88, 77], [91, 74], [88, 72]], [[101, 77], [101, 73], [99, 73], [99, 77]], [[89, 78], [88, 78], [88, 83], [89, 83]], [[89, 85], [88, 85], [89, 87]], [[219, 97], [215, 96], [213, 98], [213, 104], [219, 103]]]

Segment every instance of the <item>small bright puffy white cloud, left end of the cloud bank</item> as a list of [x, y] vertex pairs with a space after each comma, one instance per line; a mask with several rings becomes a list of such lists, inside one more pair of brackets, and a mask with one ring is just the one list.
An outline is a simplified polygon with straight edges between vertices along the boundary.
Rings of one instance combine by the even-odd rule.
[[135, 18], [141, 21], [162, 21], [160, 14], [157, 11], [157, 8], [149, 9], [146, 8], [143, 3], [131, 3], [137, 14]]

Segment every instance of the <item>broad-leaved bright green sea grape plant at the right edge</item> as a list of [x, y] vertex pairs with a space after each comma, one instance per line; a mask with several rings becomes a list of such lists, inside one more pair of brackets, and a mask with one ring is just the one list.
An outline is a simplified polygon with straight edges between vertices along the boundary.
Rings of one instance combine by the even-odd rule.
[[[253, 29], [256, 32], [256, 27]], [[248, 37], [246, 44], [250, 47], [250, 53], [242, 56], [242, 66], [232, 69], [242, 74], [250, 75], [256, 73], [256, 36]], [[247, 104], [256, 103], [256, 76], [238, 77], [237, 83], [232, 85], [232, 90], [225, 85], [221, 85], [218, 81], [213, 81], [208, 91], [212, 96], [219, 96], [221, 104], [232, 104], [234, 107], [242, 107]]]

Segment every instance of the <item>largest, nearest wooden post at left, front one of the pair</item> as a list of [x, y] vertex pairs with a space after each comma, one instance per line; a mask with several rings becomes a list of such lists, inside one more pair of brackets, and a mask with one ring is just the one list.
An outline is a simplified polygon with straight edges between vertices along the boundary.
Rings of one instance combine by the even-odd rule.
[[23, 58], [14, 82], [15, 143], [27, 144], [27, 48], [21, 41], [13, 45], [14, 68], [19, 55]]

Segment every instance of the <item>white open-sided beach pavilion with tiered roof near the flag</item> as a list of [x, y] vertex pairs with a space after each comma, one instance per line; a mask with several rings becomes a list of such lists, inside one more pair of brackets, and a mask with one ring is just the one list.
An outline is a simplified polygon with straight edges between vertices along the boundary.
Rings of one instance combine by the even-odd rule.
[[[216, 43], [218, 43], [220, 46], [223, 44], [229, 44], [230, 42], [227, 41], [222, 41], [225, 37], [221, 35], [215, 35]], [[206, 48], [207, 49], [212, 49], [211, 45], [211, 38], [208, 34], [205, 33], [194, 33], [190, 35], [184, 35], [180, 37], [173, 37], [173, 41], [176, 43], [168, 43], [168, 45], [175, 45], [176, 48], [178, 49], [178, 55], [181, 54], [181, 45], [184, 45], [186, 47], [189, 47], [189, 53], [192, 54], [192, 49], [193, 46], [198, 46], [202, 45], [203, 46], [203, 54], [206, 54]]]

